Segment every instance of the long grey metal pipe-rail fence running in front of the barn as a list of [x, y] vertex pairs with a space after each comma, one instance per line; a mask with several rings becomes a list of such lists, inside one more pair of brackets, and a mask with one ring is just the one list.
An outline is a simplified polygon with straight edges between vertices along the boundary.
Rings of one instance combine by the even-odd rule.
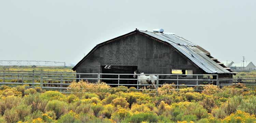
[[[84, 75], [94, 75], [95, 77], [83, 77]], [[104, 75], [113, 75], [116, 77], [104, 77]], [[26, 88], [41, 87], [47, 90], [59, 90], [61, 92], [69, 93], [67, 91], [71, 82], [79, 80], [91, 80], [91, 81], [112, 81], [106, 85], [110, 86], [135, 86], [136, 90], [142, 90], [140, 86], [152, 86], [154, 89], [144, 90], [156, 90], [160, 86], [169, 83], [169, 86], [173, 86], [179, 90], [179, 87], [188, 86], [194, 87], [194, 90], [200, 91], [201, 87], [209, 86], [208, 84], [214, 84], [218, 87], [239, 85], [242, 83], [246, 86], [252, 86], [252, 90], [256, 90], [256, 77], [237, 77], [237, 78], [225, 78], [219, 79], [217, 74], [144, 74], [155, 75], [156, 79], [139, 79], [139, 78], [124, 78], [124, 75], [141, 75], [141, 74], [111, 74], [111, 73], [76, 73], [76, 72], [58, 72], [58, 71], [0, 71], [0, 86], [16, 87], [18, 85], [25, 85]], [[121, 77], [122, 76], [122, 77]], [[160, 77], [161, 76], [161, 77]], [[168, 76], [168, 78], [162, 77]], [[190, 77], [188, 77], [190, 76]], [[155, 84], [139, 84], [139, 81], [151, 80], [155, 81]], [[125, 81], [125, 82], [124, 82]], [[131, 83], [133, 81], [133, 83]], [[230, 83], [225, 83], [229, 81]], [[174, 84], [171, 84], [174, 83]], [[70, 92], [72, 93], [72, 92]]]

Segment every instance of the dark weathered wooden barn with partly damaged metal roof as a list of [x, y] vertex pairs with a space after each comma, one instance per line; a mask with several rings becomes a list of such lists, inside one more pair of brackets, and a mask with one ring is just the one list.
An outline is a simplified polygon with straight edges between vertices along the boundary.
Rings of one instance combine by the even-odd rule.
[[[208, 51], [182, 37], [140, 30], [98, 44], [72, 68], [77, 73], [131, 74], [137, 69], [147, 74], [218, 74], [219, 78], [232, 78], [234, 74], [230, 68], [212, 57]], [[81, 75], [80, 77], [92, 78], [97, 75]], [[116, 78], [117, 76], [102, 75], [101, 77]], [[132, 78], [132, 75], [120, 76], [122, 77]], [[213, 76], [212, 79], [216, 79], [215, 77]], [[177, 76], [160, 76], [160, 78], [175, 79]], [[180, 75], [180, 78], [196, 79], [196, 76]], [[198, 79], [200, 78], [202, 79], [203, 76], [199, 76]], [[116, 83], [114, 81], [104, 82]], [[167, 83], [173, 82], [176, 81]], [[122, 81], [122, 83], [137, 84], [137, 81]], [[161, 81], [159, 84], [163, 83], [166, 81]], [[179, 84], [182, 83], [195, 84], [195, 82], [188, 81], [179, 82]]]

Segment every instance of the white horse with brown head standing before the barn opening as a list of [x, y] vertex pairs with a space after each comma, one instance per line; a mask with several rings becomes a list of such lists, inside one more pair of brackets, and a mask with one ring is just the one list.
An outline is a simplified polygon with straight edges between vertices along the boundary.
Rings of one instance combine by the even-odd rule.
[[[134, 71], [134, 74], [140, 74], [138, 75], [138, 79], [145, 79], [145, 80], [138, 80], [140, 85], [156, 84], [157, 77], [155, 75], [145, 75], [144, 72], [140, 72], [138, 70]], [[136, 78], [136, 76], [137, 75], [133, 75], [133, 78]]]

